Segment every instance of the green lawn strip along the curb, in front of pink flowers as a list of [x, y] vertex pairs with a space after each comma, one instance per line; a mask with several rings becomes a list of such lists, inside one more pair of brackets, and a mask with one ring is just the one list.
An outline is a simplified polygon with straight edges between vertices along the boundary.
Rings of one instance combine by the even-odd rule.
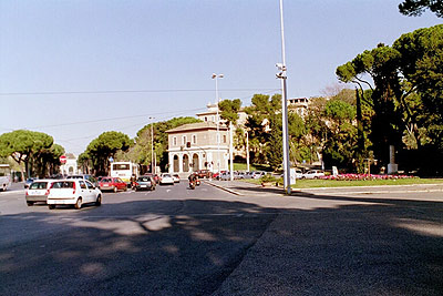
[[[259, 180], [244, 180], [244, 182], [260, 184]], [[412, 185], [412, 184], [443, 184], [443, 178], [414, 177], [414, 178], [372, 180], [372, 181], [297, 180], [297, 183], [292, 185], [292, 188]]]

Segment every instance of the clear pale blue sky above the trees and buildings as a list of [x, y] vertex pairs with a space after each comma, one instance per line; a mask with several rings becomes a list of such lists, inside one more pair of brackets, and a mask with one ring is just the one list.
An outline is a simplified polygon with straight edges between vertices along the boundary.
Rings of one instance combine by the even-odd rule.
[[[319, 95], [358, 53], [442, 23], [400, 2], [285, 0], [288, 95]], [[134, 137], [150, 116], [205, 109], [214, 72], [222, 99], [276, 93], [280, 60], [279, 0], [2, 0], [0, 133], [44, 132], [79, 154], [102, 132]]]

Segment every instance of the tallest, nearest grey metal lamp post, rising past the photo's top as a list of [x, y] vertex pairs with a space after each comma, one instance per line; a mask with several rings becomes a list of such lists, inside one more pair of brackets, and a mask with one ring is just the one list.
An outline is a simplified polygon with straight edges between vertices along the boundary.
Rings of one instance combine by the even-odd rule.
[[281, 79], [281, 118], [282, 118], [282, 146], [284, 146], [284, 187], [286, 194], [291, 193], [290, 187], [290, 163], [289, 163], [289, 136], [288, 136], [288, 100], [286, 90], [286, 54], [285, 54], [285, 29], [284, 29], [284, 0], [280, 0], [280, 29], [281, 29], [281, 63], [277, 63], [280, 71], [277, 74]]

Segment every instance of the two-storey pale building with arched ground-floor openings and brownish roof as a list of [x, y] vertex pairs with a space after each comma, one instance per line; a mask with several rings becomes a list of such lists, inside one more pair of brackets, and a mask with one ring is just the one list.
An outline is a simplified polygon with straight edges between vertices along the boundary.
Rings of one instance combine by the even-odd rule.
[[168, 134], [169, 173], [212, 172], [228, 170], [229, 133], [225, 124], [206, 121], [184, 124], [166, 131]]

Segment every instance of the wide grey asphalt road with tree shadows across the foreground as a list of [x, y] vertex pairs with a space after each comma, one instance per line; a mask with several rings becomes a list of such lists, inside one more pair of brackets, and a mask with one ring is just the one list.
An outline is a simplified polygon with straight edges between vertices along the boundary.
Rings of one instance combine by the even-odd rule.
[[203, 184], [28, 207], [0, 193], [0, 295], [442, 295], [443, 191]]

